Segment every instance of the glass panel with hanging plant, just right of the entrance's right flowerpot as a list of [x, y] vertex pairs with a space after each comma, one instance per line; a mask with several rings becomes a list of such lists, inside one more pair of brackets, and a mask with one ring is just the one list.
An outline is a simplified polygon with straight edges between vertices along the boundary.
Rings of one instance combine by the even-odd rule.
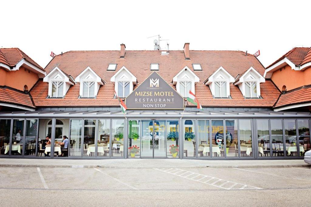
[[188, 156], [195, 157], [195, 120], [183, 120], [183, 151]]

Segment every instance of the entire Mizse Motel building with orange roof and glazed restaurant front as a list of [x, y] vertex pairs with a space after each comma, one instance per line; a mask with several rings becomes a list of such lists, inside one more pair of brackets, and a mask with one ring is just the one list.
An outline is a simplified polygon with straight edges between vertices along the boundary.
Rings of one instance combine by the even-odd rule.
[[[303, 159], [310, 76], [307, 47], [267, 68], [247, 52], [193, 51], [189, 43], [69, 51], [45, 68], [19, 48], [1, 48], [0, 157]], [[203, 110], [186, 101], [189, 91]]]

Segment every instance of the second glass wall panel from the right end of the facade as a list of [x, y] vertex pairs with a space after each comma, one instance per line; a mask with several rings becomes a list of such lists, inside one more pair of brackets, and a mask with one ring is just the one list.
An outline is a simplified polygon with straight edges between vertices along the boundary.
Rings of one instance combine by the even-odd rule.
[[299, 154], [297, 153], [296, 120], [284, 119], [284, 131], [286, 156], [298, 156]]

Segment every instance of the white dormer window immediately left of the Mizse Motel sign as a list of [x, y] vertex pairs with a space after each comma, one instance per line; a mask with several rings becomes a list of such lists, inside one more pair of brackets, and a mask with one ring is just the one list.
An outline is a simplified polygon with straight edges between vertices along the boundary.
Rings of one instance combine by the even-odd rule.
[[110, 81], [114, 83], [118, 97], [127, 97], [137, 84], [137, 78], [124, 66], [111, 77]]

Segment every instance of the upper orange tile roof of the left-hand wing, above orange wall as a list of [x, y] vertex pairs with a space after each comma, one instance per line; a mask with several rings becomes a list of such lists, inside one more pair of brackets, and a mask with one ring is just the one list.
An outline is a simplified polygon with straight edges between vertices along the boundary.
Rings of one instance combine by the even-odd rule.
[[32, 60], [19, 48], [0, 48], [0, 62], [10, 67], [15, 66], [22, 59], [26, 59], [31, 64], [37, 66], [41, 70], [44, 70], [38, 63]]

